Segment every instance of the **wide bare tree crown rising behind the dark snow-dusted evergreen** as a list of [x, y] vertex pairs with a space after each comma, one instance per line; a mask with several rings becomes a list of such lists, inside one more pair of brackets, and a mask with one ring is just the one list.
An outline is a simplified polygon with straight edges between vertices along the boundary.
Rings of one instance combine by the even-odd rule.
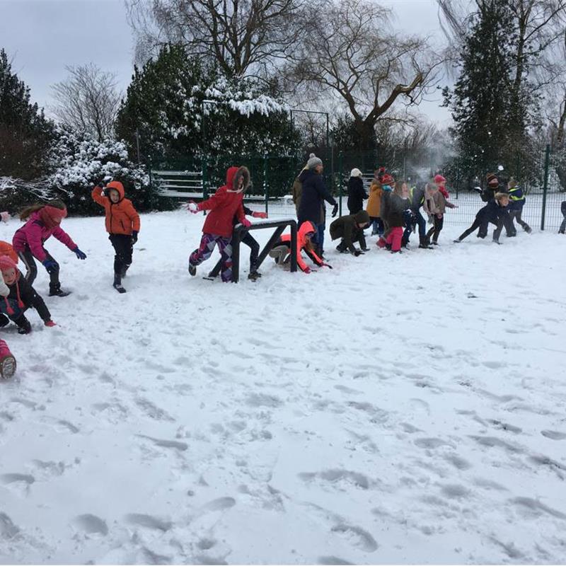
[[[304, 0], [126, 0], [137, 54], [165, 42], [208, 57], [229, 76], [267, 77], [299, 39]], [[143, 61], [144, 62], [144, 61]]]

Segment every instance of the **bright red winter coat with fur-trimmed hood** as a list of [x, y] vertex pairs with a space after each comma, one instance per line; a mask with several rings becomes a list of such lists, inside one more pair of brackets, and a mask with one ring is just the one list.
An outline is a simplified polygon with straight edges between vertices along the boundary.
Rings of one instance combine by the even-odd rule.
[[[238, 180], [243, 177], [243, 189], [238, 191]], [[246, 167], [231, 167], [226, 171], [226, 185], [222, 185], [212, 197], [197, 205], [198, 210], [209, 210], [210, 214], [202, 226], [202, 232], [231, 238], [233, 232], [233, 217], [237, 216], [242, 222], [246, 216], [243, 213], [243, 193], [250, 185], [250, 172]]]

